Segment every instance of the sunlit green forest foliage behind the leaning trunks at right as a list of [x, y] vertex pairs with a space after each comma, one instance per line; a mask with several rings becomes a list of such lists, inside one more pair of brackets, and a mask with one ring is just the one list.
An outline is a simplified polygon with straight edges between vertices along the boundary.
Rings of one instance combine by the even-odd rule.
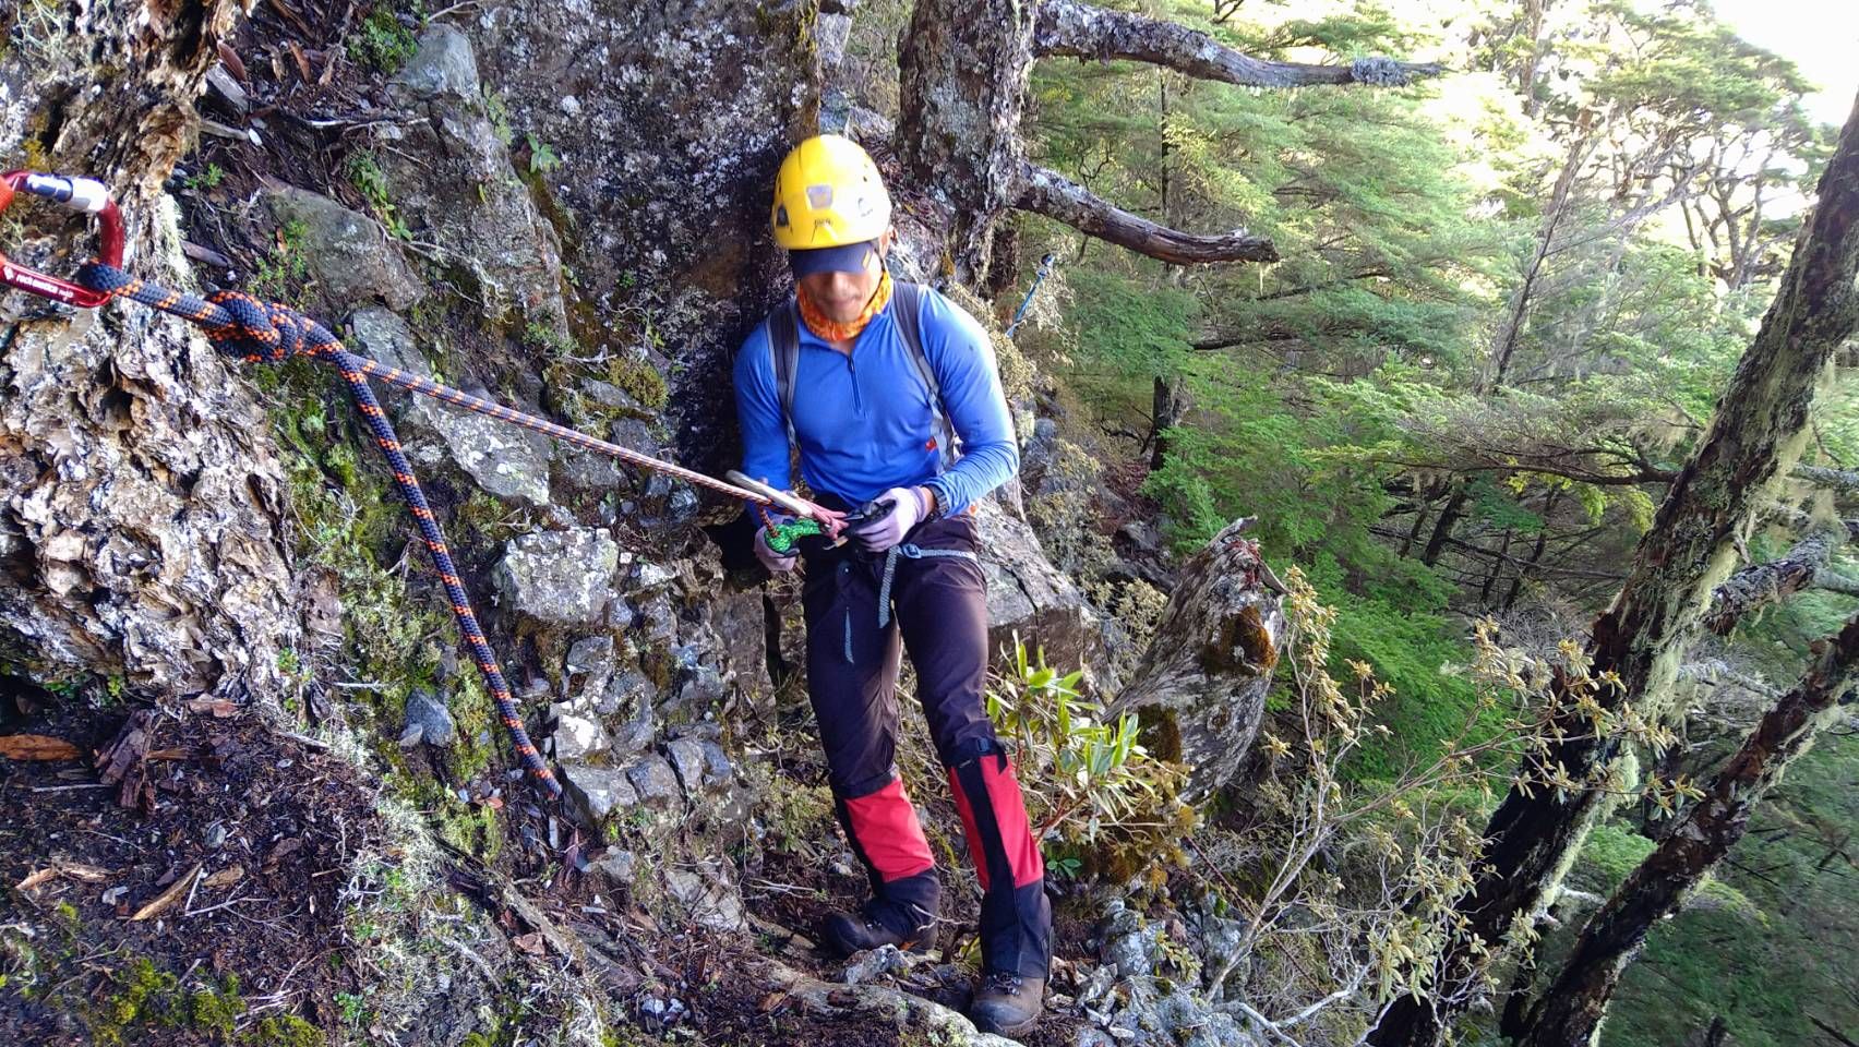
[[[1549, 651], [1617, 591], [1773, 298], [1850, 104], [1850, 84], [1785, 56], [1826, 71], [1827, 41], [1853, 43], [1850, 13], [1813, 7], [1733, 9], [1772, 46], [1801, 41], [1777, 52], [1686, 2], [1147, 4], [1244, 54], [1450, 73], [1259, 91], [1136, 63], [1035, 67], [1035, 162], [1162, 225], [1244, 225], [1279, 249], [1277, 264], [1179, 268], [1022, 218], [1024, 266], [1056, 266], [1021, 342], [1061, 376], [1071, 426], [1115, 448], [1108, 469], [1132, 463], [1127, 487], [1175, 549], [1257, 515], [1268, 558], [1337, 608], [1338, 664], [1366, 660], [1394, 692], [1389, 735], [1351, 764], [1361, 783], [1474, 709], [1456, 671], [1474, 619]], [[864, 39], [881, 50], [881, 32]], [[1855, 361], [1840, 363], [1803, 463], [1859, 463]], [[1762, 528], [1746, 560], [1785, 560], [1798, 537]], [[1852, 614], [1853, 573], [1835, 552], [1811, 590], [1686, 655], [1682, 740], [1660, 774], [1723, 761]], [[1653, 932], [1602, 1043], [1675, 1045], [1718, 1017], [1746, 1045], [1859, 1028], [1855, 777], [1848, 722], [1770, 794], [1712, 889]], [[1666, 815], [1615, 807], [1569, 887], [1608, 895]]]

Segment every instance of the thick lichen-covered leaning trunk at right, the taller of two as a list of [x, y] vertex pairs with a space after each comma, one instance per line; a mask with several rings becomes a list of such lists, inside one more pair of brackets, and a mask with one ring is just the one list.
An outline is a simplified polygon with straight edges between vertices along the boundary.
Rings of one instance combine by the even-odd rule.
[[[1677, 660], [1697, 630], [1712, 588], [1729, 575], [1734, 543], [1786, 476], [1807, 439], [1814, 383], [1833, 351], [1859, 324], [1859, 113], [1846, 123], [1820, 180], [1820, 199], [1794, 249], [1731, 387], [1697, 452], [1641, 537], [1614, 604], [1595, 621], [1588, 653], [1593, 673], [1619, 673], [1602, 707], [1632, 703], [1656, 716], [1669, 696]], [[1565, 681], [1552, 684], [1556, 720], [1569, 738], [1543, 766], [1562, 764], [1576, 781], [1604, 775], [1621, 738], [1591, 738], [1573, 710]], [[1580, 723], [1578, 723], [1580, 720]], [[1524, 774], [1534, 774], [1524, 768]], [[1545, 891], [1575, 859], [1601, 809], [1601, 790], [1558, 792], [1513, 787], [1485, 828], [1485, 865], [1452, 917], [1463, 919], [1433, 961], [1433, 997], [1404, 995], [1381, 1014], [1378, 1047], [1437, 1043], [1478, 995], [1483, 948], [1513, 921], [1532, 919]]]

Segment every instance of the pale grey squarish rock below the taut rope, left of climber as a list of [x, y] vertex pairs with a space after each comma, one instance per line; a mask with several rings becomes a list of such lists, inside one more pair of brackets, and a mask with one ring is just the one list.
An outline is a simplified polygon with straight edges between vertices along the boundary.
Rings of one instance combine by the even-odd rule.
[[524, 534], [509, 539], [496, 588], [517, 614], [554, 625], [591, 625], [612, 595], [619, 547], [606, 528]]

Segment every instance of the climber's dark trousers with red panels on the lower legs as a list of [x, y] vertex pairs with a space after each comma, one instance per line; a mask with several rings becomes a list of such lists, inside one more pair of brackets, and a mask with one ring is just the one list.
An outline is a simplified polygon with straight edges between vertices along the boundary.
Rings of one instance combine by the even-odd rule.
[[[844, 508], [831, 497], [822, 504]], [[903, 937], [937, 913], [935, 857], [896, 770], [898, 664], [948, 772], [982, 881], [982, 956], [991, 971], [1047, 976], [1052, 911], [1045, 863], [1006, 749], [987, 720], [987, 582], [974, 519], [922, 523], [890, 552], [803, 543], [807, 686], [835, 811], [872, 881], [874, 911]]]

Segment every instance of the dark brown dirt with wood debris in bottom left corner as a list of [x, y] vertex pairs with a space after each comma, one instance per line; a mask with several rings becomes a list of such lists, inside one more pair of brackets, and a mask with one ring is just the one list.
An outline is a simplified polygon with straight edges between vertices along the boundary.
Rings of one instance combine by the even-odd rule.
[[0, 735], [76, 748], [0, 757], [0, 1041], [87, 1043], [87, 1025], [97, 1041], [206, 1043], [208, 1015], [188, 1028], [201, 991], [242, 997], [253, 1027], [333, 1023], [355, 987], [335, 915], [355, 854], [381, 846], [372, 792], [344, 761], [218, 712], [154, 714], [125, 789], [99, 783], [91, 753], [126, 709], [0, 701]]

